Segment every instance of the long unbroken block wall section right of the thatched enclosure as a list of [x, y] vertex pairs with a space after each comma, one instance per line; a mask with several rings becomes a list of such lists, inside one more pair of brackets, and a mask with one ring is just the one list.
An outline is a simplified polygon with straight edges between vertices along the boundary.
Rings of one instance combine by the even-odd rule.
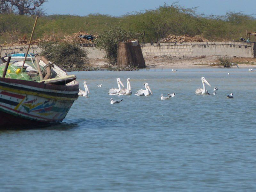
[[256, 57], [256, 43], [247, 42], [172, 42], [142, 43], [143, 56], [211, 56], [228, 55], [230, 57]]

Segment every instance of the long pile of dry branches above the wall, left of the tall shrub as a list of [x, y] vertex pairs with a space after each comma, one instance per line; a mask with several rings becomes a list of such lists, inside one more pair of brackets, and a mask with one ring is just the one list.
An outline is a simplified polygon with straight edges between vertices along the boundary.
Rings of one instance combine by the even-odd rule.
[[[35, 39], [32, 41], [32, 45], [37, 45], [43, 42], [64, 42], [64, 43], [75, 43], [75, 44], [93, 44], [91, 40], [87, 40], [84, 38], [80, 38], [80, 35], [90, 35], [89, 33], [85, 31], [80, 31], [77, 33], [72, 33], [72, 35], [64, 35], [64, 38], [56, 38], [56, 36], [50, 36], [50, 37], [43, 37], [40, 39]], [[93, 35], [95, 39], [98, 37], [97, 35]], [[22, 38], [18, 38], [18, 41], [1, 44], [1, 46], [16, 46], [16, 45], [27, 45], [29, 42], [29, 39], [27, 36], [23, 36]]]

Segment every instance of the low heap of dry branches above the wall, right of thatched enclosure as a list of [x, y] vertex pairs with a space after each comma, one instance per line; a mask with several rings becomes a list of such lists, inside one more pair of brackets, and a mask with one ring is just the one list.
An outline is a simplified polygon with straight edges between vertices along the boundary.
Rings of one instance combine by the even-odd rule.
[[201, 36], [188, 36], [188, 35], [184, 35], [184, 36], [175, 36], [175, 35], [168, 35], [167, 38], [161, 39], [158, 42], [159, 43], [166, 43], [166, 42], [204, 42], [204, 41], [208, 41], [207, 39], [204, 39]]

